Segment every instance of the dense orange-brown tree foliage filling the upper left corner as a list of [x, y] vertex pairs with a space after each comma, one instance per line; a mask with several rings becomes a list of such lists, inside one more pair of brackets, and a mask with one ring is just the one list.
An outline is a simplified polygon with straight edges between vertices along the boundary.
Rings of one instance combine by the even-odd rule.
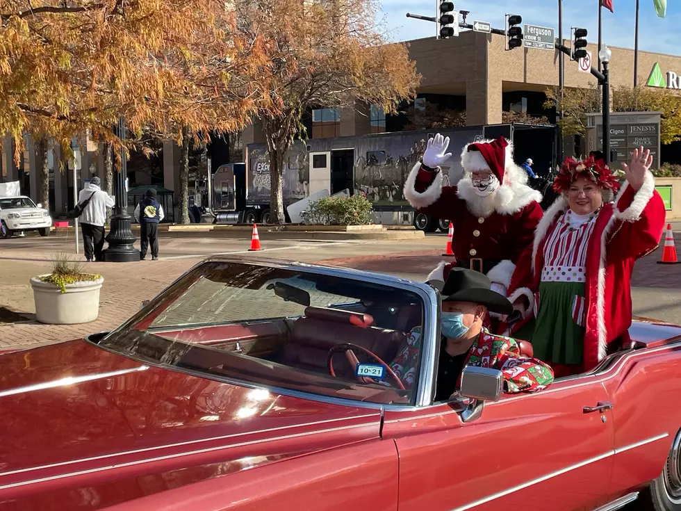
[[[53, 139], [68, 154], [90, 129], [120, 159], [111, 127], [179, 143], [186, 131], [231, 131], [253, 111], [258, 41], [234, 33], [218, 0], [0, 0], [0, 133]], [[248, 74], [252, 76], [252, 74]], [[127, 150], [127, 147], [124, 147]], [[44, 179], [44, 176], [42, 176]]]

